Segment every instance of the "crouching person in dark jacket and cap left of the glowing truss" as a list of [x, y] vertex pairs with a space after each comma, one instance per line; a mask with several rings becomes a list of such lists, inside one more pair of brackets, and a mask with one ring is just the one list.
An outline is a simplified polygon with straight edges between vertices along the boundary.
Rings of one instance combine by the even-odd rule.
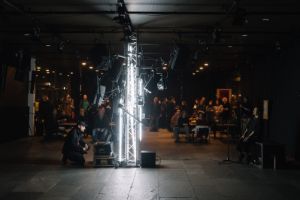
[[70, 160], [84, 167], [85, 159], [83, 154], [89, 149], [89, 146], [83, 141], [85, 127], [86, 124], [84, 122], [78, 122], [77, 126], [68, 134], [62, 149], [63, 164]]

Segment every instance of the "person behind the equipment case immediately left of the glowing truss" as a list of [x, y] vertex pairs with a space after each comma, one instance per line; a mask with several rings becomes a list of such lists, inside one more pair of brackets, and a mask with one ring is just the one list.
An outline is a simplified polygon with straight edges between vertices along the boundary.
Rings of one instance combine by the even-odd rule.
[[95, 117], [94, 128], [92, 131], [94, 143], [98, 141], [105, 141], [108, 136], [109, 120], [105, 110], [104, 105], [101, 105]]

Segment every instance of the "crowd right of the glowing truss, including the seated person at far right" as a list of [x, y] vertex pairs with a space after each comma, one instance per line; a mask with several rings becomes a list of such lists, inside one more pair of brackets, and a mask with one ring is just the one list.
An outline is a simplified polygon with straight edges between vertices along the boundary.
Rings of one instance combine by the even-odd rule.
[[253, 160], [251, 152], [260, 132], [259, 122], [257, 107], [253, 109], [246, 97], [222, 97], [208, 102], [205, 97], [201, 97], [192, 106], [185, 100], [177, 104], [174, 97], [161, 100], [154, 97], [150, 110], [150, 131], [167, 128], [173, 132], [175, 142], [179, 141], [180, 132], [185, 133], [189, 142], [193, 125], [209, 126], [215, 133], [220, 124], [235, 124], [240, 133], [237, 150], [240, 152], [241, 162], [245, 157], [247, 162]]

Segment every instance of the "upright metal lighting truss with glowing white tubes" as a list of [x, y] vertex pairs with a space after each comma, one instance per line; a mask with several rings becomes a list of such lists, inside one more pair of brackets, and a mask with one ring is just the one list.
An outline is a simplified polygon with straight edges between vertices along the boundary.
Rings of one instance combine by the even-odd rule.
[[[143, 81], [138, 77], [137, 40], [131, 36], [127, 44], [126, 90], [119, 108], [119, 161], [137, 166], [142, 139]], [[124, 136], [124, 137], [123, 137]], [[124, 153], [123, 153], [124, 152]]]

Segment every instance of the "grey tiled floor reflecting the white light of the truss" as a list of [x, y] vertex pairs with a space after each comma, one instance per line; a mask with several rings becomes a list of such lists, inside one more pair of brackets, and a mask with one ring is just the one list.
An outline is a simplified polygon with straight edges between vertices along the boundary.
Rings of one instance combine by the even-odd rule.
[[[205, 143], [174, 143], [166, 130], [145, 131], [142, 149], [155, 151], [157, 168], [62, 166], [62, 141], [25, 138], [0, 145], [0, 199], [5, 200], [279, 200], [300, 199], [300, 171], [220, 164], [223, 135]], [[236, 160], [235, 148], [230, 156]]]

